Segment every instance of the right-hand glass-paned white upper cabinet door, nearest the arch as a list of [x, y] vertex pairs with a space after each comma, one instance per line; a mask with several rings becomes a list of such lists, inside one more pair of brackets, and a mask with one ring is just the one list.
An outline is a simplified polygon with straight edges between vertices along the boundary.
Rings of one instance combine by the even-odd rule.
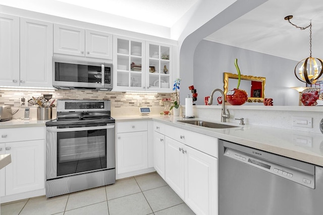
[[147, 85], [150, 90], [169, 89], [173, 84], [173, 47], [165, 44], [148, 43], [149, 73]]

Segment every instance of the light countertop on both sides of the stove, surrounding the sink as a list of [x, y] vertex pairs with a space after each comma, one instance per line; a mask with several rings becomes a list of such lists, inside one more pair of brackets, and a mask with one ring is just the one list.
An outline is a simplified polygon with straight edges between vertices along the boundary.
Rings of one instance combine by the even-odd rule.
[[[155, 120], [179, 128], [195, 131], [201, 134], [217, 137], [237, 144], [285, 156], [288, 158], [304, 161], [323, 167], [323, 134], [290, 129], [273, 128], [258, 125], [239, 125], [239, 123], [227, 123], [236, 125], [235, 128], [207, 128], [191, 125], [177, 120], [182, 117], [168, 115], [131, 115], [113, 116], [117, 122], [129, 120]], [[186, 119], [193, 120], [193, 119]], [[218, 122], [216, 120], [194, 118], [194, 120], [204, 120]], [[0, 122], [0, 128], [15, 127], [43, 127], [48, 120], [21, 120], [13, 119]]]

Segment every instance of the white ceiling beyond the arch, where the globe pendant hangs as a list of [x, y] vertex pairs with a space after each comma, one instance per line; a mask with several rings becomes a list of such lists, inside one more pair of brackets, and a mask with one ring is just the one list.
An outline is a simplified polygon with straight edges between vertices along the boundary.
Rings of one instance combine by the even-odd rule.
[[206, 39], [300, 61], [309, 57], [309, 28], [284, 20], [293, 15], [291, 22], [300, 27], [312, 20], [312, 56], [323, 58], [322, 11], [321, 0], [268, 0]]

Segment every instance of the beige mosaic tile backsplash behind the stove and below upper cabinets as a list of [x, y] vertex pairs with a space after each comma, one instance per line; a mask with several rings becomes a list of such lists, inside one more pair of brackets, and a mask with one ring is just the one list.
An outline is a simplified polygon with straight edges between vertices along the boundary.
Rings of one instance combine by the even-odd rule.
[[[172, 98], [174, 101], [175, 93], [128, 93], [128, 92], [106, 92], [91, 90], [55, 90], [55, 91], [17, 91], [0, 89], [0, 105], [10, 105], [19, 107], [22, 97], [26, 103], [33, 97], [39, 97], [43, 94], [52, 94], [53, 99], [109, 99], [112, 107], [160, 107], [159, 101], [163, 98]], [[54, 103], [56, 105], [56, 102]], [[31, 106], [28, 103], [28, 106]]]

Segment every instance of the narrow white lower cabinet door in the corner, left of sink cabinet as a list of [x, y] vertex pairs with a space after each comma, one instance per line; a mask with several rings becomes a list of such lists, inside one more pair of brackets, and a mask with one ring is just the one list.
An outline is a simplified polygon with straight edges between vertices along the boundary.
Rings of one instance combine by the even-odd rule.
[[153, 167], [165, 180], [165, 135], [153, 132]]

